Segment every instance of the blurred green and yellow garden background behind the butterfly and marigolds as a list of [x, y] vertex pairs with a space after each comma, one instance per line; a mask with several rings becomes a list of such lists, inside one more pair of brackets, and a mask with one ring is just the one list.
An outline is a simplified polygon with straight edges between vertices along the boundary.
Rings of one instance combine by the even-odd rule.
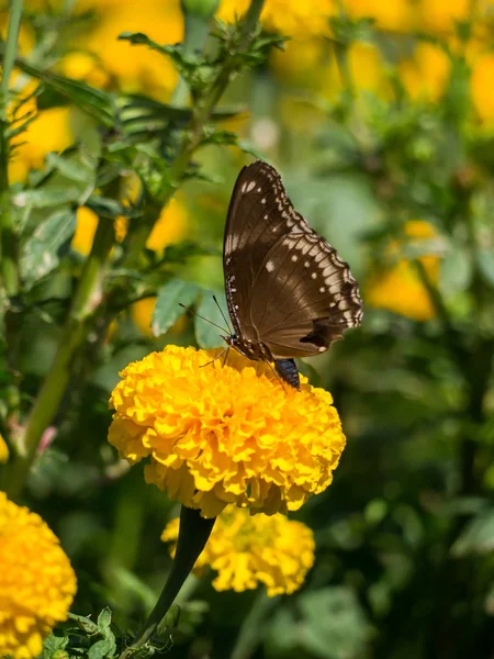
[[[234, 21], [247, 5], [223, 0], [216, 18]], [[7, 18], [4, 4], [3, 36]], [[349, 263], [364, 319], [300, 364], [334, 395], [348, 444], [330, 488], [293, 515], [314, 530], [314, 568], [244, 626], [237, 656], [493, 658], [494, 2], [266, 0], [261, 20], [289, 41], [234, 79], [222, 126], [280, 170], [295, 208]], [[172, 102], [171, 58], [119, 41], [125, 31], [181, 42], [179, 1], [26, 0], [20, 55], [38, 72]], [[11, 87], [22, 112], [37, 110], [9, 166], [13, 189], [80, 193], [97, 122], [26, 67]], [[124, 629], [156, 601], [171, 560], [159, 536], [178, 509], [116, 460], [109, 394], [119, 370], [150, 350], [221, 344], [176, 305], [158, 309], [154, 331], [151, 315], [159, 287], [177, 279], [199, 287], [198, 312], [217, 320], [207, 291], [223, 295], [226, 209], [251, 159], [238, 146], [202, 148], [194, 160], [206, 176], [157, 209], [146, 253], [158, 275], [105, 319], [30, 479], [26, 502], [78, 574], [74, 611], [110, 605]], [[124, 174], [132, 205], [139, 179], [131, 165]], [[31, 221], [48, 205], [35, 204]], [[96, 226], [94, 209], [79, 204], [70, 248], [33, 288], [18, 328], [25, 401], [49, 368]], [[126, 220], [115, 231], [124, 236]], [[194, 581], [167, 655], [232, 657], [257, 597]]]

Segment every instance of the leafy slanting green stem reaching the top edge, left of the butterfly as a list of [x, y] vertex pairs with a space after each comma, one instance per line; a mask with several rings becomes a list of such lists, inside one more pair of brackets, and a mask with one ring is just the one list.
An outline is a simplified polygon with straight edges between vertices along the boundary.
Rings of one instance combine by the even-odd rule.
[[[250, 44], [254, 31], [259, 21], [260, 13], [262, 11], [265, 0], [251, 0], [250, 7], [245, 15], [244, 22], [240, 27], [240, 40], [239, 40], [239, 52], [245, 52]], [[202, 102], [198, 103], [193, 108], [193, 114], [188, 130], [186, 130], [182, 144], [179, 147], [177, 157], [170, 169], [170, 186], [169, 189], [161, 197], [161, 203], [165, 206], [171, 197], [173, 196], [180, 180], [187, 171], [189, 163], [194, 152], [201, 145], [202, 132], [204, 125], [211, 118], [211, 114], [220, 101], [225, 89], [227, 88], [232, 76], [235, 74], [237, 68], [237, 62], [235, 57], [231, 57], [225, 62], [225, 65], [220, 70], [216, 79], [212, 82], [210, 91]], [[132, 245], [130, 247], [125, 267], [133, 268], [138, 264], [141, 253], [143, 252], [147, 238], [153, 230], [153, 224], [143, 223], [143, 225], [136, 231], [132, 237]]]

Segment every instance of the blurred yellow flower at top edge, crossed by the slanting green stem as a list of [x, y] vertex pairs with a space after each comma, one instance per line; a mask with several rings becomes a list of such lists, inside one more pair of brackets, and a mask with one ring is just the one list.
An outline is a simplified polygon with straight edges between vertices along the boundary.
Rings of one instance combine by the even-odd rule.
[[[249, 4], [249, 0], [222, 0], [217, 18], [231, 23], [236, 16], [244, 15]], [[328, 19], [334, 13], [333, 0], [266, 0], [260, 18], [267, 30], [307, 37], [311, 34], [329, 34]]]

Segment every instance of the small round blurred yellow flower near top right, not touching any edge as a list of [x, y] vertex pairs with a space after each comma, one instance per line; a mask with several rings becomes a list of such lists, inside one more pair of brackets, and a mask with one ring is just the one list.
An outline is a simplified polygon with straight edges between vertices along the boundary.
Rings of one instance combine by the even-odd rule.
[[400, 64], [401, 79], [414, 100], [437, 101], [451, 74], [451, 60], [438, 46], [419, 43], [413, 57]]

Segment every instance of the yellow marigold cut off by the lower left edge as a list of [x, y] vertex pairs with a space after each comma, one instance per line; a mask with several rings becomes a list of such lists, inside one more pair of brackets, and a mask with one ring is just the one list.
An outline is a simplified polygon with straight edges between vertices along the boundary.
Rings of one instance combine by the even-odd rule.
[[67, 619], [76, 574], [40, 515], [0, 492], [0, 656], [30, 659]]

